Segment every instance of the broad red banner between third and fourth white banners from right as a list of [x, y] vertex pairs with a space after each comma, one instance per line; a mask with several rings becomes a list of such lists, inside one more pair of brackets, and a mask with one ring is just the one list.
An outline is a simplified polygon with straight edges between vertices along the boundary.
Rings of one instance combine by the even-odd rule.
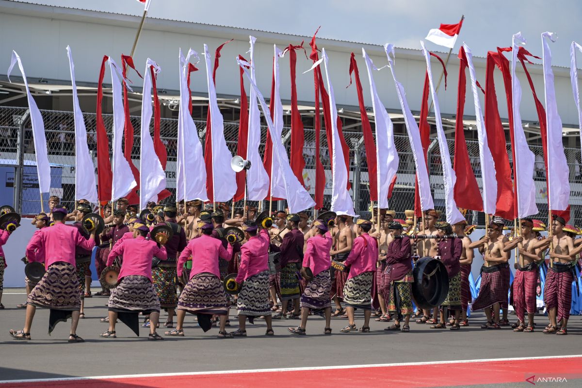
[[[505, 131], [499, 116], [497, 107], [497, 95], [495, 92], [494, 70], [495, 66], [501, 69], [505, 94], [508, 104], [509, 123], [513, 127], [513, 113], [511, 103], [511, 75], [509, 73], [508, 60], [498, 51], [487, 53], [487, 66], [485, 68], [485, 128], [487, 129], [487, 142], [491, 155], [495, 161], [495, 177], [497, 179], [497, 204], [495, 214], [505, 219], [515, 218], [512, 172], [509, 166], [509, 156], [505, 143]], [[513, 130], [510, 130], [513, 137]]]

